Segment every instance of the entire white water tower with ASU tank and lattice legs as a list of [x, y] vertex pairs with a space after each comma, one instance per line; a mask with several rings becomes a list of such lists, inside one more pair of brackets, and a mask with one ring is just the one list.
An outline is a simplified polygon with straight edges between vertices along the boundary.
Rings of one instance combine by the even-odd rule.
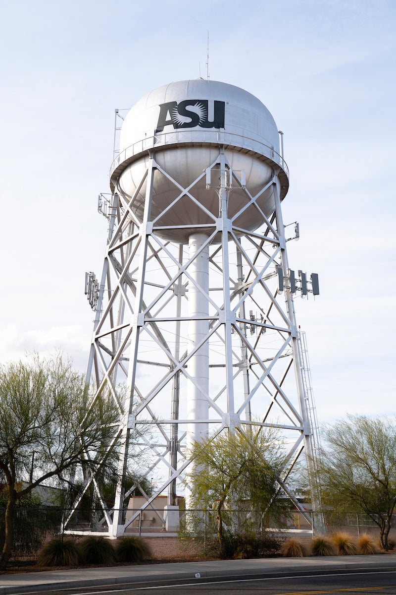
[[[304, 449], [311, 471], [315, 461], [293, 305], [308, 284], [287, 262], [279, 139], [259, 99], [202, 79], [153, 90], [122, 123], [102, 204], [103, 273], [87, 278], [96, 310], [87, 379], [119, 402], [112, 447], [121, 480], [134, 478], [128, 490], [119, 481], [113, 508], [96, 484], [96, 530], [110, 537], [144, 511], [175, 528], [189, 444], [224, 428], [280, 428], [290, 455], [280, 486], [299, 506], [283, 479]], [[139, 483], [140, 509], [126, 513]]]

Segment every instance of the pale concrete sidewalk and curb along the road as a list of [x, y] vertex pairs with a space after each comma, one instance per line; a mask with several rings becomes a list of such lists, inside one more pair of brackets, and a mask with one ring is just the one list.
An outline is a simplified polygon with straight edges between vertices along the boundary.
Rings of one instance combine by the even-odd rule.
[[[191, 580], [192, 578], [264, 577], [294, 572], [323, 571], [396, 571], [396, 555], [329, 556], [328, 558], [263, 558], [254, 560], [210, 560], [110, 568], [68, 569], [0, 575], [0, 595], [34, 591], [59, 591], [65, 588], [97, 587]], [[199, 576], [198, 576], [199, 575]]]

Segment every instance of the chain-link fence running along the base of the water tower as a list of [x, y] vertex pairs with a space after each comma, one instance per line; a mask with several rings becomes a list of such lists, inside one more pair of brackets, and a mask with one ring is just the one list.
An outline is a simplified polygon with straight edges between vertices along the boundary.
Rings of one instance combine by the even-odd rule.
[[[117, 511], [118, 512], [118, 511]], [[40, 543], [59, 533], [78, 532], [106, 533], [113, 522], [115, 511], [109, 509], [103, 514], [102, 509], [68, 510], [54, 506], [40, 508], [15, 508], [14, 536], [15, 547], [21, 552], [36, 550]], [[5, 509], [0, 509], [0, 546], [4, 543]], [[347, 531], [351, 536], [360, 537], [362, 533], [378, 536], [379, 527], [375, 518], [355, 512], [337, 514], [334, 511], [315, 513], [312, 511], [292, 511], [284, 516], [271, 518], [264, 512], [251, 510], [223, 510], [223, 526], [232, 533], [251, 533], [264, 535], [273, 533], [292, 533], [312, 536], [318, 533]], [[125, 508], [120, 511], [119, 519], [126, 527], [126, 533], [155, 536], [159, 533], [204, 534], [213, 536], [217, 531], [217, 515], [213, 509], [186, 511], [180, 510], [178, 522], [173, 518], [172, 527], [167, 522], [166, 509], [154, 509], [148, 506], [144, 510]], [[66, 522], [67, 521], [67, 522]], [[396, 521], [393, 517], [392, 527]], [[66, 524], [65, 524], [66, 523]], [[312, 531], [313, 527], [313, 531]], [[391, 531], [394, 533], [394, 530]]]

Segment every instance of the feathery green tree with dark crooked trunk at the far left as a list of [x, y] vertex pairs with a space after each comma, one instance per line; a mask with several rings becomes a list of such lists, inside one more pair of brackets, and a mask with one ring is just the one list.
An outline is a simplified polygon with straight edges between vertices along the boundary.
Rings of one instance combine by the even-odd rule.
[[7, 495], [0, 568], [12, 553], [15, 502], [43, 481], [66, 483], [79, 465], [85, 473], [99, 465], [117, 415], [108, 394], [90, 405], [83, 375], [61, 355], [34, 353], [0, 367], [0, 475]]

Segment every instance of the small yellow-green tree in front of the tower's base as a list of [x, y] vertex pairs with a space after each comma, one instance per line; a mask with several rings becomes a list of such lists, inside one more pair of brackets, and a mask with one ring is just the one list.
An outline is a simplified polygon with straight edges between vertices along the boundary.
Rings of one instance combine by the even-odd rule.
[[278, 482], [285, 456], [275, 428], [223, 430], [192, 448], [194, 465], [187, 477], [190, 506], [213, 509], [220, 556], [226, 557], [227, 509], [278, 513]]

